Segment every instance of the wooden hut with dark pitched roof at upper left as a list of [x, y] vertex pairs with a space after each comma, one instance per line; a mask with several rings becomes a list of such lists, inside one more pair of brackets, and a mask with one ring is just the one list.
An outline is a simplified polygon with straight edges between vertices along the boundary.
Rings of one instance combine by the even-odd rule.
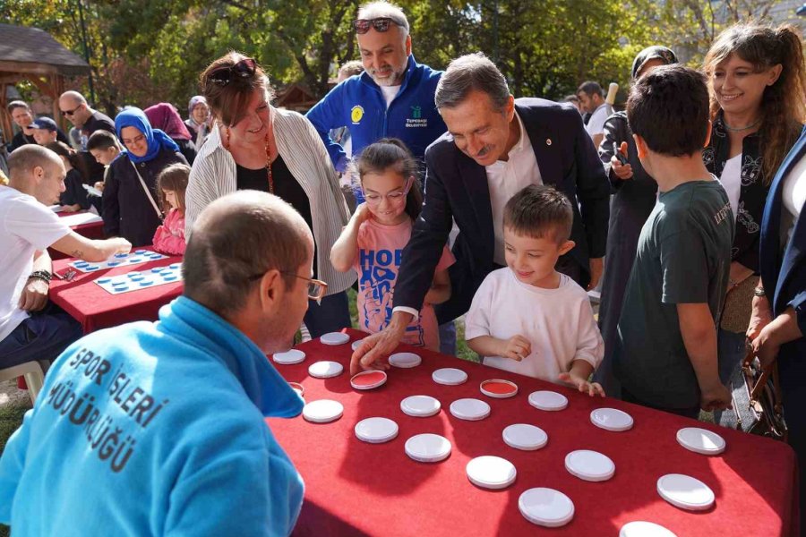
[[6, 89], [19, 81], [30, 81], [43, 94], [53, 99], [53, 117], [62, 127], [59, 96], [68, 77], [87, 76], [90, 65], [81, 56], [64, 48], [47, 31], [0, 24], [0, 126], [11, 140], [11, 115], [6, 110]]

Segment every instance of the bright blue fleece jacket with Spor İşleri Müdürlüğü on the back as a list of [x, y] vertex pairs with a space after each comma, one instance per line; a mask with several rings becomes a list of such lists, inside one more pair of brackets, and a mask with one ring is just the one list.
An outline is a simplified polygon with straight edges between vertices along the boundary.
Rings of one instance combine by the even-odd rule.
[[0, 458], [0, 522], [25, 535], [287, 535], [303, 482], [265, 417], [303, 401], [242, 332], [180, 297], [159, 322], [56, 359]]

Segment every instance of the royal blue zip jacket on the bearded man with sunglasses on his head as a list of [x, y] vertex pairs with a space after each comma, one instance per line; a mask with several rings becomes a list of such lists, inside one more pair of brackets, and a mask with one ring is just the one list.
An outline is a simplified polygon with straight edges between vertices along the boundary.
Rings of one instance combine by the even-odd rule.
[[347, 156], [344, 149], [330, 139], [329, 132], [343, 126], [350, 130], [353, 155], [373, 141], [394, 137], [406, 143], [422, 161], [425, 148], [447, 130], [433, 104], [441, 76], [442, 71], [417, 64], [414, 55], [408, 55], [406, 77], [389, 108], [381, 88], [367, 72], [362, 72], [330, 90], [305, 117], [322, 136], [333, 166], [339, 172], [345, 171]]

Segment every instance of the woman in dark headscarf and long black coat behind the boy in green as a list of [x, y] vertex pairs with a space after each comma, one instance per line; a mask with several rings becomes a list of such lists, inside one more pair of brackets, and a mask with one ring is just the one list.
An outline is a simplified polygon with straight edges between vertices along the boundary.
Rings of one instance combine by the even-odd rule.
[[[677, 57], [666, 47], [647, 47], [632, 62], [632, 80], [659, 65], [676, 64]], [[615, 156], [613, 144], [627, 159], [622, 165]], [[632, 139], [627, 113], [616, 112], [604, 122], [604, 139], [599, 146], [599, 158], [610, 179], [613, 202], [604, 255], [602, 299], [599, 303], [599, 329], [604, 338], [604, 360], [594, 374], [608, 396], [618, 397], [621, 386], [613, 378], [613, 345], [616, 326], [622, 314], [622, 300], [630, 279], [639, 234], [649, 213], [655, 207], [657, 183], [641, 166], [635, 141]]]

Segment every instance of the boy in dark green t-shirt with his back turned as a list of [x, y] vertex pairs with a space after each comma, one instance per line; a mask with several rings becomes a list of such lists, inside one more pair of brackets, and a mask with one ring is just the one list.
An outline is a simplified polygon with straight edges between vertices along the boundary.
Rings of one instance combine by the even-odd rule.
[[627, 102], [641, 164], [658, 200], [641, 229], [613, 353], [622, 398], [697, 418], [723, 409], [716, 317], [722, 310], [733, 243], [727, 194], [703, 165], [705, 78], [682, 65], [636, 81]]

